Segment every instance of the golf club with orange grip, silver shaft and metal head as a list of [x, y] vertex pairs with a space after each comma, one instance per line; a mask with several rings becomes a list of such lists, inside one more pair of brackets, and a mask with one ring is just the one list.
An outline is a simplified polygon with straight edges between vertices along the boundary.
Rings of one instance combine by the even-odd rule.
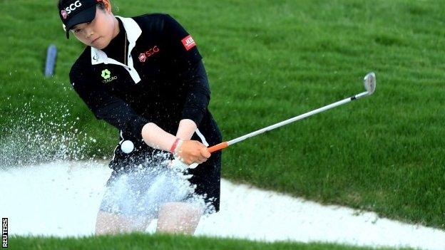
[[208, 150], [209, 150], [209, 152], [215, 152], [215, 151], [218, 151], [218, 150], [223, 150], [226, 147], [229, 147], [230, 145], [233, 145], [233, 144], [235, 144], [237, 142], [241, 142], [243, 140], [246, 140], [247, 138], [254, 137], [255, 135], [260, 135], [263, 132], [274, 130], [277, 127], [282, 127], [282, 126], [287, 125], [289, 123], [293, 123], [293, 122], [295, 122], [297, 120], [305, 119], [307, 117], [310, 117], [311, 115], [315, 115], [317, 113], [321, 113], [324, 110], [329, 110], [329, 109], [335, 108], [335, 107], [337, 107], [339, 105], [343, 105], [345, 103], [349, 103], [352, 100], [357, 100], [359, 98], [363, 98], [365, 96], [372, 95], [372, 93], [374, 93], [375, 88], [376, 88], [376, 76], [375, 76], [375, 73], [371, 72], [371, 73], [368, 73], [367, 75], [365, 75], [364, 79], [363, 79], [363, 82], [364, 82], [364, 88], [366, 88], [366, 91], [363, 92], [363, 93], [359, 93], [357, 95], [353, 95], [352, 97], [346, 98], [344, 100], [339, 100], [337, 103], [332, 103], [332, 104], [326, 105], [326, 106], [324, 106], [322, 108], [317, 108], [316, 110], [312, 110], [312, 111], [304, 113], [302, 115], [298, 115], [295, 118], [290, 118], [288, 120], [284, 120], [281, 123], [276, 123], [274, 125], [270, 125], [268, 127], [262, 128], [260, 130], [255, 131], [255, 132], [251, 132], [251, 133], [249, 133], [247, 135], [243, 135], [241, 137], [237, 137], [237, 138], [235, 138], [233, 140], [221, 142], [218, 145], [214, 145], [212, 147], [209, 147]]

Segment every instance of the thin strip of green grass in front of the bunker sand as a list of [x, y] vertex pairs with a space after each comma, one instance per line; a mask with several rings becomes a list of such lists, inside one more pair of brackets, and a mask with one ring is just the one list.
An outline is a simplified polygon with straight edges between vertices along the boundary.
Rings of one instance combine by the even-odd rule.
[[[9, 249], [157, 249], [157, 250], [371, 250], [375, 248], [344, 246], [338, 244], [297, 244], [290, 242], [262, 243], [239, 239], [213, 239], [209, 237], [171, 236], [126, 234], [119, 236], [100, 236], [83, 238], [41, 238], [41, 237], [13, 237], [9, 241]], [[381, 250], [389, 248], [379, 248]]]

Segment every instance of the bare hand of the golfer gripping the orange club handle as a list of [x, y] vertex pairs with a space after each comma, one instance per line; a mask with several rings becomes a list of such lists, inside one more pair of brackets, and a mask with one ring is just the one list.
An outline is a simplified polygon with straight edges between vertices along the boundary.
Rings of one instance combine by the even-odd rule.
[[197, 140], [185, 140], [176, 147], [175, 155], [185, 164], [191, 165], [192, 163], [201, 164], [208, 160], [210, 152], [203, 143]]

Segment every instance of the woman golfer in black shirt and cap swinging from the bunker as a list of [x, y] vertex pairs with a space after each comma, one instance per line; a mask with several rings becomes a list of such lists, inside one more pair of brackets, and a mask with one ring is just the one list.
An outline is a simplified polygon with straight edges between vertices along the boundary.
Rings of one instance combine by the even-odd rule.
[[[86, 45], [69, 74], [73, 89], [120, 135], [96, 234], [144, 231], [152, 219], [158, 231], [193, 234], [203, 213], [219, 210], [221, 167], [220, 152], [210, 155], [207, 148], [221, 134], [208, 110], [208, 78], [193, 37], [166, 14], [114, 16], [109, 0], [59, 0], [58, 14], [66, 37]], [[175, 178], [162, 161], [173, 157], [200, 165]], [[159, 167], [167, 172], [156, 172]], [[149, 177], [120, 178], [135, 170]]]

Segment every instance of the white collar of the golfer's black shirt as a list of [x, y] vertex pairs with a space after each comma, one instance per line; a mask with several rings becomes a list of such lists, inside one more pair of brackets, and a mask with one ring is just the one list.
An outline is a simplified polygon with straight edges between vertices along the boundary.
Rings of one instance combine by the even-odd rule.
[[[138, 23], [131, 18], [125, 18], [122, 16], [116, 16], [116, 18], [121, 19], [123, 28], [125, 28], [127, 32], [128, 54], [130, 54], [140, 34], [142, 34], [142, 30], [140, 29]], [[100, 49], [91, 47], [91, 64], [96, 65], [106, 62], [108, 62], [108, 56], [106, 53]]]

